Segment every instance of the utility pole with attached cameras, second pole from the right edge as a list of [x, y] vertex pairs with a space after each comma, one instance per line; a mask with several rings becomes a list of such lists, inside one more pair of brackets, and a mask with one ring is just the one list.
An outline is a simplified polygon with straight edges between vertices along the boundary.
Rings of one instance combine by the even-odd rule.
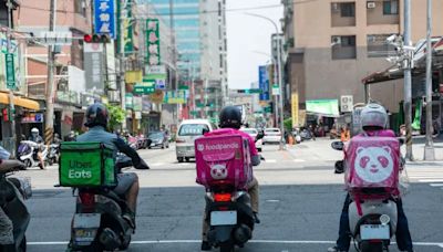
[[[404, 0], [404, 35], [403, 43], [405, 46], [411, 46], [411, 0]], [[414, 160], [412, 155], [412, 74], [411, 64], [412, 57], [410, 56], [412, 52], [408, 50], [408, 56], [404, 60], [404, 123], [406, 127], [406, 159]]]

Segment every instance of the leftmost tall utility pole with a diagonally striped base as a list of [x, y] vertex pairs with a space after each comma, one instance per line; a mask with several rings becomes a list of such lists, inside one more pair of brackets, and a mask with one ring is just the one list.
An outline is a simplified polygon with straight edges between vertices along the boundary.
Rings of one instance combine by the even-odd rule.
[[[55, 27], [55, 1], [51, 0], [49, 15], [49, 31]], [[47, 83], [47, 115], [44, 122], [44, 143], [51, 144], [54, 134], [54, 52], [52, 44], [48, 45], [48, 83]]]

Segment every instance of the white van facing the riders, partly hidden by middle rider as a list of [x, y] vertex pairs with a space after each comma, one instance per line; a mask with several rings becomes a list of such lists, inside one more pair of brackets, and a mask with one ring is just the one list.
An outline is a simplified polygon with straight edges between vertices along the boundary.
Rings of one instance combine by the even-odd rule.
[[203, 129], [212, 132], [216, 129], [215, 124], [207, 119], [185, 119], [178, 126], [175, 153], [178, 162], [189, 161], [195, 158], [194, 140], [203, 135]]

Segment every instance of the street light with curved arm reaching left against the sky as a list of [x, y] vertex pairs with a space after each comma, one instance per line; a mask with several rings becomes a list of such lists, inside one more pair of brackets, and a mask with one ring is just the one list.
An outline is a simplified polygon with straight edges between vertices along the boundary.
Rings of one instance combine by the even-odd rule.
[[277, 65], [278, 65], [278, 88], [279, 88], [279, 111], [280, 111], [280, 132], [281, 132], [281, 138], [280, 138], [280, 150], [285, 149], [285, 128], [284, 128], [284, 92], [282, 92], [282, 71], [281, 71], [281, 36], [279, 35], [279, 30], [277, 27], [277, 23], [269, 19], [266, 15], [260, 15], [256, 13], [248, 13], [245, 12], [247, 15], [265, 19], [268, 22], [272, 23], [274, 28], [276, 29], [276, 40], [277, 40]]

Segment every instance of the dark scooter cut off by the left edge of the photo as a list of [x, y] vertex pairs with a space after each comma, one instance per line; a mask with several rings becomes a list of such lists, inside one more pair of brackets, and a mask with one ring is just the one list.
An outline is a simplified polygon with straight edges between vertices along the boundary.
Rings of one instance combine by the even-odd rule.
[[[24, 165], [23, 165], [24, 166]], [[11, 172], [22, 169], [21, 166], [0, 169], [0, 206], [6, 217], [12, 221], [11, 245], [0, 244], [0, 251], [27, 251], [25, 232], [31, 220], [24, 200], [31, 198], [32, 190], [29, 180], [8, 177]], [[3, 218], [6, 218], [3, 217]]]

